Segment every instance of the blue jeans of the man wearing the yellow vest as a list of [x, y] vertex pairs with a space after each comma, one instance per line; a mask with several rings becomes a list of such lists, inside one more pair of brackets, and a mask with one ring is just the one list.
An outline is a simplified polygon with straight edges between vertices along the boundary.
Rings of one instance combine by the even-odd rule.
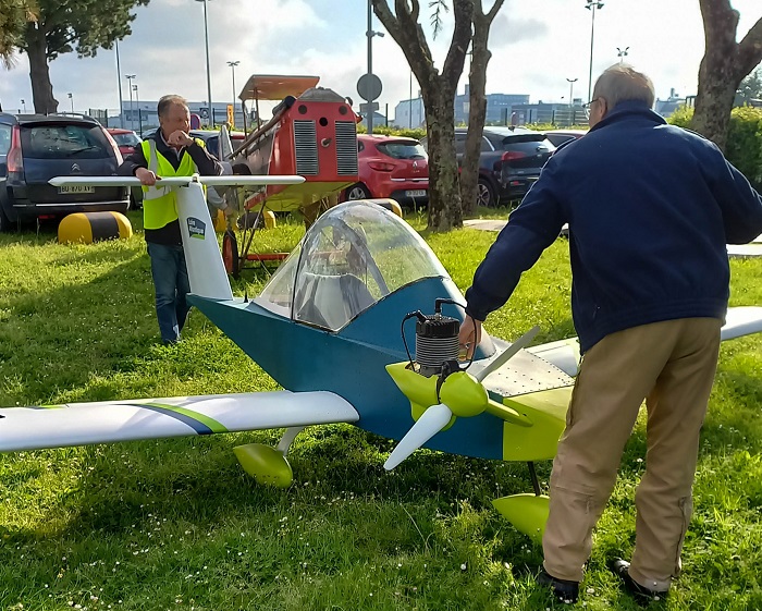
[[180, 339], [190, 306], [186, 295], [190, 292], [185, 253], [182, 246], [148, 243], [151, 258], [151, 276], [156, 290], [156, 317], [163, 343]]

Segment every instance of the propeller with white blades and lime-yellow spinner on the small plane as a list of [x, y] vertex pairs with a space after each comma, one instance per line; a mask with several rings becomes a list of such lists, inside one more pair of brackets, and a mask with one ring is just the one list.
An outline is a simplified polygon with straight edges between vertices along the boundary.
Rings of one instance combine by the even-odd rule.
[[453, 416], [468, 417], [484, 412], [489, 405], [489, 396], [481, 382], [490, 374], [500, 369], [518, 351], [527, 347], [539, 331], [539, 327], [532, 327], [476, 376], [462, 370], [445, 378], [439, 392], [442, 403], [432, 405], [423, 412], [420, 418], [410, 427], [410, 430], [397, 443], [396, 448], [394, 448], [383, 467], [386, 471], [393, 469], [434, 435], [444, 429], [451, 423]]

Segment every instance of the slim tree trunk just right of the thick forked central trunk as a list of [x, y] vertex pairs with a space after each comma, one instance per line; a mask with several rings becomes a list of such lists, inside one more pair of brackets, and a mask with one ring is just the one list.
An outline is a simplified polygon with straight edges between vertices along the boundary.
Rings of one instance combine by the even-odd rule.
[[492, 53], [487, 47], [490, 26], [503, 0], [495, 0], [489, 13], [481, 10], [481, 0], [476, 0], [474, 10], [474, 38], [471, 39], [471, 66], [468, 73], [468, 134], [460, 168], [460, 197], [463, 213], [474, 216], [477, 209], [479, 186], [479, 158], [481, 139], [487, 119], [487, 65]]

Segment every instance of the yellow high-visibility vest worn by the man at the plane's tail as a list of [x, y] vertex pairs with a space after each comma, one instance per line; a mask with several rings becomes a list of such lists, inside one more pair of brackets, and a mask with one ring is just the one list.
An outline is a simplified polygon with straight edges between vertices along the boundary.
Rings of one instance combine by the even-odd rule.
[[[196, 139], [199, 146], [204, 142]], [[156, 140], [148, 138], [143, 140], [143, 155], [148, 161], [148, 169], [157, 176], [168, 179], [171, 176], [192, 176], [198, 173], [198, 168], [189, 154], [183, 155], [180, 167], [174, 166], [156, 149]], [[169, 186], [143, 186], [143, 225], [145, 229], [161, 229], [172, 221], [177, 220], [177, 198]]]

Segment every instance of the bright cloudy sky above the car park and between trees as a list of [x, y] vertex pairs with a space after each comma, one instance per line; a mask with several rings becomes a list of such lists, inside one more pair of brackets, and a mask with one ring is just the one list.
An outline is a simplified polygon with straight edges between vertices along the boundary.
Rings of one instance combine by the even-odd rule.
[[[762, 17], [760, 0], [732, 0], [740, 11], [739, 39]], [[484, 4], [491, 4], [484, 0]], [[493, 57], [488, 93], [528, 94], [531, 101], [567, 101], [587, 98], [590, 62], [591, 12], [585, 0], [506, 0], [490, 34]], [[428, 1], [421, 1], [428, 28]], [[235, 69], [236, 89], [250, 74], [315, 74], [320, 84], [359, 101], [357, 78], [367, 72], [367, 3], [365, 0], [209, 0], [211, 89], [214, 101], [233, 97], [228, 61]], [[177, 93], [206, 100], [204, 7], [194, 0], [151, 0], [135, 10], [133, 34], [120, 44], [122, 90], [128, 101], [125, 74], [136, 74], [143, 100]], [[431, 41], [441, 66], [452, 33]], [[373, 17], [373, 29], [383, 26]], [[595, 13], [593, 81], [615, 63], [617, 47], [629, 47], [626, 58], [653, 78], [657, 97], [674, 88], [680, 95], [696, 93], [703, 54], [703, 28], [698, 0], [605, 0]], [[410, 73], [406, 60], [389, 36], [373, 38], [373, 72], [383, 83], [381, 109], [409, 97]], [[96, 58], [63, 56], [50, 64], [53, 91], [61, 110], [119, 108], [115, 53], [102, 50]], [[462, 80], [458, 90], [463, 90]], [[414, 96], [417, 84], [414, 82]], [[237, 91], [236, 91], [237, 93]], [[10, 71], [0, 68], [3, 108], [32, 108], [28, 61], [20, 56]]]

